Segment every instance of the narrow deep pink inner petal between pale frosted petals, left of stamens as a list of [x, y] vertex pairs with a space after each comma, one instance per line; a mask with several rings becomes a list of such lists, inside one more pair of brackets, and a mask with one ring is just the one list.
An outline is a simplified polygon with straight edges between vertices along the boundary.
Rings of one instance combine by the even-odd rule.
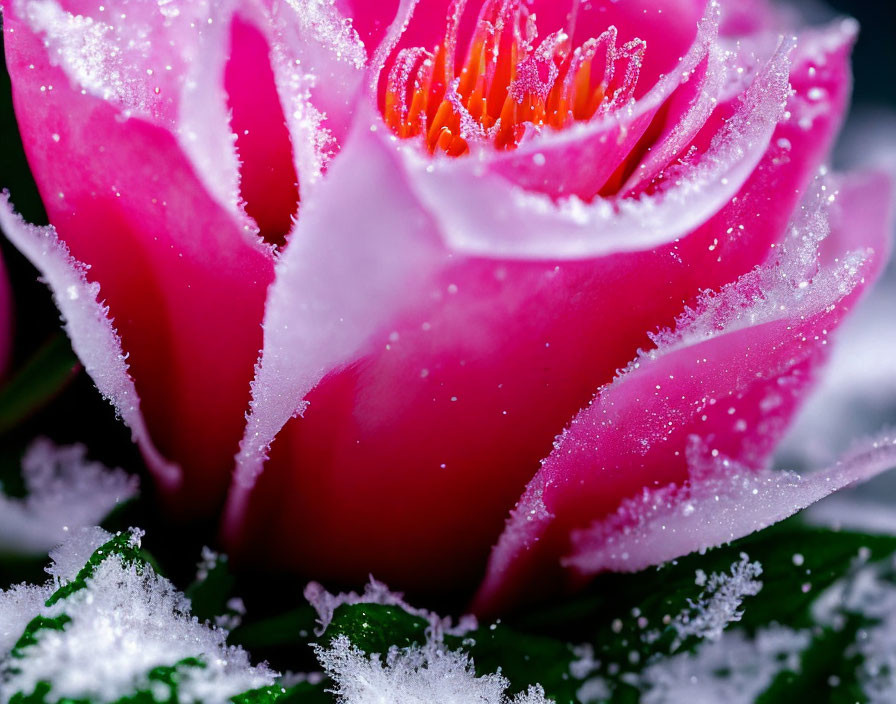
[[262, 33], [235, 17], [224, 74], [240, 161], [240, 195], [261, 236], [283, 244], [299, 204], [292, 144]]

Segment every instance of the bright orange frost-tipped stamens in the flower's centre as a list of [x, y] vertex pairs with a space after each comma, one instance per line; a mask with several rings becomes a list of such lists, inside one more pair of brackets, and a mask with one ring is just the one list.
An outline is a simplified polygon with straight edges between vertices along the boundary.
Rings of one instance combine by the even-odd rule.
[[617, 48], [616, 28], [609, 27], [573, 49], [569, 27], [536, 45], [535, 15], [520, 0], [485, 2], [458, 70], [463, 5], [454, 4], [433, 51], [413, 47], [395, 57], [382, 110], [399, 137], [422, 137], [430, 153], [449, 156], [474, 143], [514, 149], [545, 127], [562, 130], [634, 99], [643, 41]]

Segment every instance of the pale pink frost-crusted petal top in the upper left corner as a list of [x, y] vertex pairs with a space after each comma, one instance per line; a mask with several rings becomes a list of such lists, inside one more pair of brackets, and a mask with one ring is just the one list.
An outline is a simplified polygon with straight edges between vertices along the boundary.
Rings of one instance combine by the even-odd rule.
[[[48, 61], [61, 69], [52, 72], [56, 82], [45, 86], [56, 89], [70, 81], [123, 115], [170, 131], [209, 193], [241, 216], [227, 95], [223, 80], [209, 80], [223, 79], [228, 13], [212, 17], [202, 4], [138, 2], [128, 3], [122, 21], [96, 0], [69, 0], [65, 6], [54, 0], [4, 0], [3, 8], [8, 38], [19, 27], [43, 41], [41, 54], [31, 49], [36, 71], [43, 72]], [[14, 53], [7, 50], [8, 57]], [[34, 72], [26, 75], [37, 81]]]

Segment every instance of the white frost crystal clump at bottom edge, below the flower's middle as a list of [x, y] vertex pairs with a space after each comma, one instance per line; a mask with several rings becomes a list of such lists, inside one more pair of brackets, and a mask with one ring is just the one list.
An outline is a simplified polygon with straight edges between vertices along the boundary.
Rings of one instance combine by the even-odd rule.
[[463, 653], [442, 648], [434, 641], [423, 647], [392, 648], [385, 659], [368, 656], [339, 636], [329, 648], [317, 648], [333, 693], [340, 704], [547, 704], [540, 687], [530, 687], [513, 698], [500, 674], [477, 677]]

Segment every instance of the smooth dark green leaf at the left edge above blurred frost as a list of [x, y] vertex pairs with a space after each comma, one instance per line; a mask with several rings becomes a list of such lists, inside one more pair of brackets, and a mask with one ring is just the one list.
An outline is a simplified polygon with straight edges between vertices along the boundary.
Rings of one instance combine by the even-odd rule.
[[41, 347], [0, 389], [0, 433], [16, 427], [48, 403], [71, 380], [78, 358], [59, 333]]

